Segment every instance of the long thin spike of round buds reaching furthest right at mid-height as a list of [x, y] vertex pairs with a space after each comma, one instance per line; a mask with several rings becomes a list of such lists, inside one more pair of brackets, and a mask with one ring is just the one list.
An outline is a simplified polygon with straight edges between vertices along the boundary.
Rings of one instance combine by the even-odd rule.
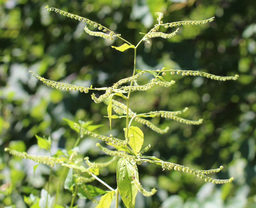
[[211, 78], [214, 80], [220, 80], [220, 81], [227, 81], [227, 80], [237, 80], [238, 79], [238, 75], [236, 74], [235, 76], [216, 76], [213, 74], [209, 74], [207, 72], [200, 72], [200, 71], [183, 71], [183, 70], [171, 70], [171, 74], [174, 75], [175, 71], [177, 73], [177, 75], [182, 75], [182, 76], [204, 76], [207, 78]]

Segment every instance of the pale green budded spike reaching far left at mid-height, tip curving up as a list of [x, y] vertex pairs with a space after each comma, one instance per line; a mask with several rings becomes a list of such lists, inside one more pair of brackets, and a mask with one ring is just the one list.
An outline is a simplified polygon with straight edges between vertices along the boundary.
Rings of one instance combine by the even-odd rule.
[[72, 85], [72, 84], [65, 84], [65, 83], [61, 83], [61, 82], [54, 82], [54, 81], [45, 79], [44, 77], [36, 75], [33, 71], [29, 71], [29, 72], [33, 73], [34, 77], [36, 77], [37, 79], [42, 81], [44, 84], [46, 84], [47, 86], [52, 87], [52, 88], [61, 89], [61, 90], [67, 90], [67, 91], [79, 90], [80, 92], [85, 92], [85, 93], [88, 93], [89, 89], [90, 89], [88, 87], [83, 87], [83, 86], [76, 86], [76, 85]]

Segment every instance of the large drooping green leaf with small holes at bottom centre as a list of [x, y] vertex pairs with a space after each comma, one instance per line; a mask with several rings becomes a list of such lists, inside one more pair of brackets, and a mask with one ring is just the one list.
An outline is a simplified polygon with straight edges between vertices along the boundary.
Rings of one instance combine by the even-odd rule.
[[[131, 184], [132, 177], [134, 176], [134, 168], [131, 162], [120, 158], [117, 163], [117, 186], [119, 189], [120, 196], [127, 208], [134, 208], [135, 196], [137, 195], [138, 189], [134, 184]], [[138, 169], [136, 166], [136, 178], [139, 180]]]

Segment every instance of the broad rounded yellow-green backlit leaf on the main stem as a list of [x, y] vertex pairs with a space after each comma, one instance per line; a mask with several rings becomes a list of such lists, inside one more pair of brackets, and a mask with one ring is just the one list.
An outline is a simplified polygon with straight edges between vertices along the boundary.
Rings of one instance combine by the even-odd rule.
[[[126, 128], [124, 129], [124, 132], [125, 132], [125, 135], [126, 135]], [[131, 146], [133, 152], [135, 152], [136, 155], [137, 155], [138, 152], [140, 152], [141, 146], [143, 144], [144, 134], [140, 130], [139, 127], [131, 126], [129, 128], [129, 131], [128, 131], [128, 137], [130, 135], [133, 135], [133, 136], [130, 138], [129, 145]]]

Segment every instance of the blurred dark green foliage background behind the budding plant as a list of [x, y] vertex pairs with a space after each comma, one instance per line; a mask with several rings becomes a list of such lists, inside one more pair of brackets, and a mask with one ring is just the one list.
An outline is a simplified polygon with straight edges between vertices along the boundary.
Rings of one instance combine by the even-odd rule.
[[[158, 192], [149, 198], [138, 194], [136, 207], [256, 207], [256, 1], [0, 0], [0, 208], [12, 203], [27, 207], [23, 195], [40, 195], [50, 173], [50, 168], [41, 164], [34, 172], [35, 163], [10, 156], [5, 147], [46, 155], [36, 145], [35, 134], [51, 134], [53, 154], [58, 148], [72, 148], [77, 133], [62, 118], [105, 124], [96, 132], [124, 138], [125, 119], [112, 119], [110, 131], [108, 118], [103, 117], [107, 107], [94, 103], [90, 93], [49, 88], [28, 71], [78, 86], [112, 86], [132, 75], [132, 50], [112, 49], [110, 45], [123, 42], [89, 36], [83, 30], [85, 23], [48, 12], [46, 5], [97, 21], [135, 45], [142, 38], [140, 32], [148, 32], [156, 23], [155, 12], [164, 13], [164, 23], [215, 16], [207, 25], [180, 26], [178, 35], [171, 39], [142, 43], [137, 50], [137, 68], [202, 70], [220, 76], [239, 74], [239, 79], [221, 82], [167, 74], [165, 79], [174, 79], [175, 86], [133, 93], [131, 109], [145, 113], [188, 107], [182, 116], [204, 118], [202, 125], [157, 117], [153, 123], [170, 126], [167, 134], [159, 135], [134, 123], [144, 132], [144, 147], [152, 146], [147, 155], [196, 169], [223, 165], [214, 177], [235, 180], [214, 185], [190, 174], [162, 172], [160, 166], [142, 164], [138, 168], [143, 186], [147, 190], [156, 187]], [[173, 30], [160, 29], [167, 33]], [[139, 81], [146, 83], [151, 78], [143, 76]], [[83, 140], [80, 156], [107, 161], [108, 156], [95, 147], [98, 141], [90, 137]], [[60, 172], [61, 167], [55, 167], [52, 195]], [[103, 168], [100, 178], [116, 187], [116, 164]], [[64, 190], [59, 204], [70, 203], [70, 199]], [[76, 203], [81, 208], [96, 206], [88, 200]]]

